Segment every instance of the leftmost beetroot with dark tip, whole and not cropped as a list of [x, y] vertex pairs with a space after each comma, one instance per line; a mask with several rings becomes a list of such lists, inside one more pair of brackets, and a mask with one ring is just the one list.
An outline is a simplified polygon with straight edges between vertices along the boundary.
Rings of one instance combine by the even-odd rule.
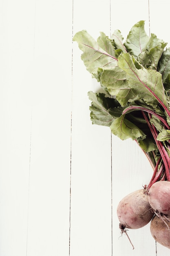
[[152, 220], [154, 212], [148, 202], [144, 189], [126, 195], [118, 204], [117, 217], [121, 227], [139, 229]]

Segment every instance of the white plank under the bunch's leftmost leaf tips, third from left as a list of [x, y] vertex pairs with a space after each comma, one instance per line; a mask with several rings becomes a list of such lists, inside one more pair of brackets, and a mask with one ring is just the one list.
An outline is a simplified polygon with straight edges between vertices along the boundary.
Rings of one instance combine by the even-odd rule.
[[[86, 29], [97, 39], [110, 33], [110, 2], [74, 0], [73, 31]], [[93, 126], [87, 93], [99, 85], [81, 61], [73, 44], [71, 251], [70, 255], [111, 254], [111, 140], [110, 129]]]

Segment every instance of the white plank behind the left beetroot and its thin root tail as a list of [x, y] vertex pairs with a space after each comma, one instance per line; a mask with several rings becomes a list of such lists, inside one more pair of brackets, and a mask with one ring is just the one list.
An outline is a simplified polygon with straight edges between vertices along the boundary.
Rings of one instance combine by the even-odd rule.
[[[111, 4], [111, 28], [112, 31], [119, 29], [124, 40], [130, 31], [131, 27], [139, 20], [145, 20], [145, 30], [149, 35], [149, 10], [148, 0], [143, 1], [140, 7], [135, 0], [119, 2], [121, 8], [120, 13], [115, 11], [115, 5]], [[139, 11], [140, 9], [140, 11]], [[132, 15], [131, 15], [132, 14]], [[132, 191], [142, 189], [145, 184], [148, 184], [152, 168], [148, 163], [148, 159], [141, 151], [139, 146], [128, 139], [121, 141], [113, 135], [113, 255], [156, 255], [155, 242], [150, 237], [150, 227], [146, 225], [141, 229], [129, 230], [128, 235], [135, 247], [132, 251], [132, 246], [126, 236], [121, 236], [119, 230], [119, 221], [117, 219], [117, 205], [119, 201]], [[120, 237], [121, 236], [121, 237]]]

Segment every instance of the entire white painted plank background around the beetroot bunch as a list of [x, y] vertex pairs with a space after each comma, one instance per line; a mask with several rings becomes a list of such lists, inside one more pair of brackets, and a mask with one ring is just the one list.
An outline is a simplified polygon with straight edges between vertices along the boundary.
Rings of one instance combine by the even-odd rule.
[[97, 82], [73, 35], [170, 42], [168, 0], [0, 0], [0, 256], [168, 256], [147, 225], [121, 236], [116, 208], [152, 168], [132, 140], [91, 124]]

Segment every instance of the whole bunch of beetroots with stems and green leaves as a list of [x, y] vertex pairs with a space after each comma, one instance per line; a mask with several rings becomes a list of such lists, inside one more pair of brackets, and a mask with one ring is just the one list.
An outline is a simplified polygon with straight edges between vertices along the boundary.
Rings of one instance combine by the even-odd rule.
[[155, 34], [148, 36], [144, 23], [137, 22], [125, 41], [118, 29], [110, 38], [101, 32], [97, 40], [82, 30], [73, 41], [102, 90], [88, 92], [92, 124], [135, 140], [154, 170], [143, 190], [119, 203], [121, 232], [151, 221], [153, 238], [170, 248], [170, 48]]

